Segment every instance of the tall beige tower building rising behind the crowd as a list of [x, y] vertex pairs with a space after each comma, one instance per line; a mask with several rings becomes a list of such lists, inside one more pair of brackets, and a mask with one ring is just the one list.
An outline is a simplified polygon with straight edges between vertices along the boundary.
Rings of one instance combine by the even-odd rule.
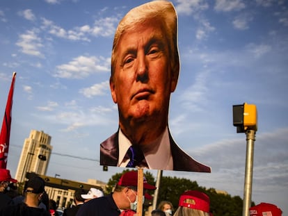
[[43, 131], [31, 130], [29, 138], [24, 141], [15, 178], [25, 181], [26, 172], [46, 175], [52, 146], [51, 136]]

